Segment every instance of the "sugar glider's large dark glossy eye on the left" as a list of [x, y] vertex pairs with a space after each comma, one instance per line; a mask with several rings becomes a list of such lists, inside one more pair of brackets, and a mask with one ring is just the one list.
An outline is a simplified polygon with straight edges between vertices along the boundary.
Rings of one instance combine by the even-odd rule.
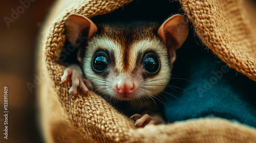
[[106, 58], [106, 55], [103, 53], [97, 53], [92, 61], [93, 68], [97, 72], [103, 72], [108, 68], [108, 58]]

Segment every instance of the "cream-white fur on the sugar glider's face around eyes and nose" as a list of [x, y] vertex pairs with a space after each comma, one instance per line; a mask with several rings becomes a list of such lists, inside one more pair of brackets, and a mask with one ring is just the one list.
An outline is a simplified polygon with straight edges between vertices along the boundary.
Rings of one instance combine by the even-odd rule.
[[[92, 59], [96, 50], [100, 49], [113, 51], [115, 58], [115, 69], [108, 69], [108, 75], [102, 77], [94, 72], [92, 69]], [[114, 39], [110, 39], [106, 36], [96, 36], [93, 37], [86, 47], [86, 54], [82, 61], [83, 71], [86, 78], [90, 80], [93, 84], [93, 89], [100, 94], [107, 96], [109, 98], [119, 99], [119, 100], [135, 100], [139, 98], [152, 98], [156, 96], [161, 91], [164, 90], [165, 85], [170, 79], [170, 65], [169, 58], [167, 54], [167, 48], [164, 44], [157, 38], [155, 39], [143, 39], [135, 41], [130, 45], [130, 59], [129, 59], [129, 69], [124, 70], [124, 48], [122, 45]], [[133, 70], [138, 67], [136, 60], [138, 58], [138, 53], [144, 53], [145, 51], [152, 50], [159, 55], [160, 69], [157, 75], [152, 76], [144, 80], [142, 72], [146, 72], [143, 69], [143, 63], [139, 63], [139, 69], [136, 73]], [[112, 60], [112, 59], [110, 59]], [[124, 59], [127, 60], [127, 59]], [[132, 94], [120, 95], [116, 91], [116, 83], [121, 80], [133, 81], [136, 91]]]

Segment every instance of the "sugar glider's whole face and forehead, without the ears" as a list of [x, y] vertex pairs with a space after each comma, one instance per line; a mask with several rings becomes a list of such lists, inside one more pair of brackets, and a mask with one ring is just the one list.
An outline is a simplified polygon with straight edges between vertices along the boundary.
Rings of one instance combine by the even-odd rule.
[[82, 60], [86, 78], [102, 95], [120, 100], [150, 98], [170, 79], [165, 44], [157, 26], [97, 25]]

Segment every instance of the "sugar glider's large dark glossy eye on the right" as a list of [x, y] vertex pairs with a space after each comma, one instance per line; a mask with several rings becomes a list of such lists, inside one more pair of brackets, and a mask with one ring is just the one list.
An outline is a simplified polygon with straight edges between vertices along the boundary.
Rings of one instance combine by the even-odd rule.
[[150, 73], [155, 73], [159, 69], [159, 61], [154, 54], [147, 55], [144, 60], [144, 69]]

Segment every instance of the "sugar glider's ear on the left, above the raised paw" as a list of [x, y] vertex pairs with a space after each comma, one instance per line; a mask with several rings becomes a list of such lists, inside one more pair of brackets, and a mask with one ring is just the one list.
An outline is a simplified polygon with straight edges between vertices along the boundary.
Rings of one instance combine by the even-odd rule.
[[77, 60], [81, 62], [81, 44], [97, 32], [97, 26], [87, 17], [71, 14], [65, 22], [66, 38], [71, 44], [79, 48]]

